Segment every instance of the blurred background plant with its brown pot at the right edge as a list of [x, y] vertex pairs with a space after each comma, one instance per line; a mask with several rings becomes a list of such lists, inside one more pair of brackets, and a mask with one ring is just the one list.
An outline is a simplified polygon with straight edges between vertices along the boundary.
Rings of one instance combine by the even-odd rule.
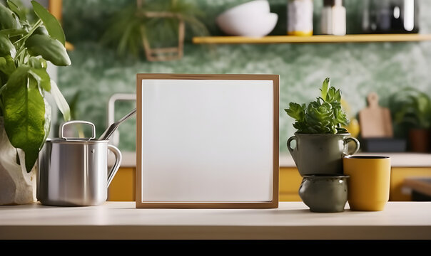
[[[410, 151], [430, 151], [431, 99], [425, 92], [407, 87], [391, 95], [392, 119], [407, 131]], [[405, 131], [404, 131], [405, 132]]]

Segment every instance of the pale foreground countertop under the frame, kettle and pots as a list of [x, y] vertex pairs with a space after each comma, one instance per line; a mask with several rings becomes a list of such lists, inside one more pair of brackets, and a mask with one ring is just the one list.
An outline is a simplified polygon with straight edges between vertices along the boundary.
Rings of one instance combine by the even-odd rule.
[[149, 209], [134, 202], [0, 206], [0, 240], [430, 240], [431, 202], [388, 202], [380, 212], [313, 213], [303, 202], [273, 209]]

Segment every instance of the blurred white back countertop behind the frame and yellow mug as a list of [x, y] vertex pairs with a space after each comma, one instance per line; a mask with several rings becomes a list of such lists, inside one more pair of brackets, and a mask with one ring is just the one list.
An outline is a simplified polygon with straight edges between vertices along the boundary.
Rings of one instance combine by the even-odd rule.
[[[136, 166], [136, 153], [135, 152], [122, 152], [123, 160], [121, 167], [135, 167]], [[359, 152], [356, 155], [367, 156], [390, 156], [392, 167], [431, 167], [431, 154], [419, 153], [365, 153]], [[280, 167], [296, 167], [292, 156], [288, 153], [280, 153]]]

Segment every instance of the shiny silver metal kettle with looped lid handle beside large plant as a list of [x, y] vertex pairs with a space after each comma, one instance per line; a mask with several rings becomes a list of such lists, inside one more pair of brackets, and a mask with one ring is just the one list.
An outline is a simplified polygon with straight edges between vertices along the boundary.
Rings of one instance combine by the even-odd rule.
[[[90, 138], [66, 138], [64, 127], [88, 124]], [[59, 138], [46, 139], [39, 153], [36, 198], [46, 206], [96, 206], [106, 201], [108, 187], [121, 164], [121, 151], [108, 140], [95, 139], [91, 122], [69, 121], [61, 124]], [[108, 171], [108, 150], [116, 161]]]

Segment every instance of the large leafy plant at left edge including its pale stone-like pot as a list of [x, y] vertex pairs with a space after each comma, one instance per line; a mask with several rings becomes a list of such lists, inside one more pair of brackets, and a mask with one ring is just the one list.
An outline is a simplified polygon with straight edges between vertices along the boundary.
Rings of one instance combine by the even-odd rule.
[[71, 64], [59, 21], [31, 1], [31, 23], [14, 1], [0, 4], [0, 204], [36, 201], [35, 164], [51, 127], [49, 93], [70, 119], [69, 105], [46, 72]]

